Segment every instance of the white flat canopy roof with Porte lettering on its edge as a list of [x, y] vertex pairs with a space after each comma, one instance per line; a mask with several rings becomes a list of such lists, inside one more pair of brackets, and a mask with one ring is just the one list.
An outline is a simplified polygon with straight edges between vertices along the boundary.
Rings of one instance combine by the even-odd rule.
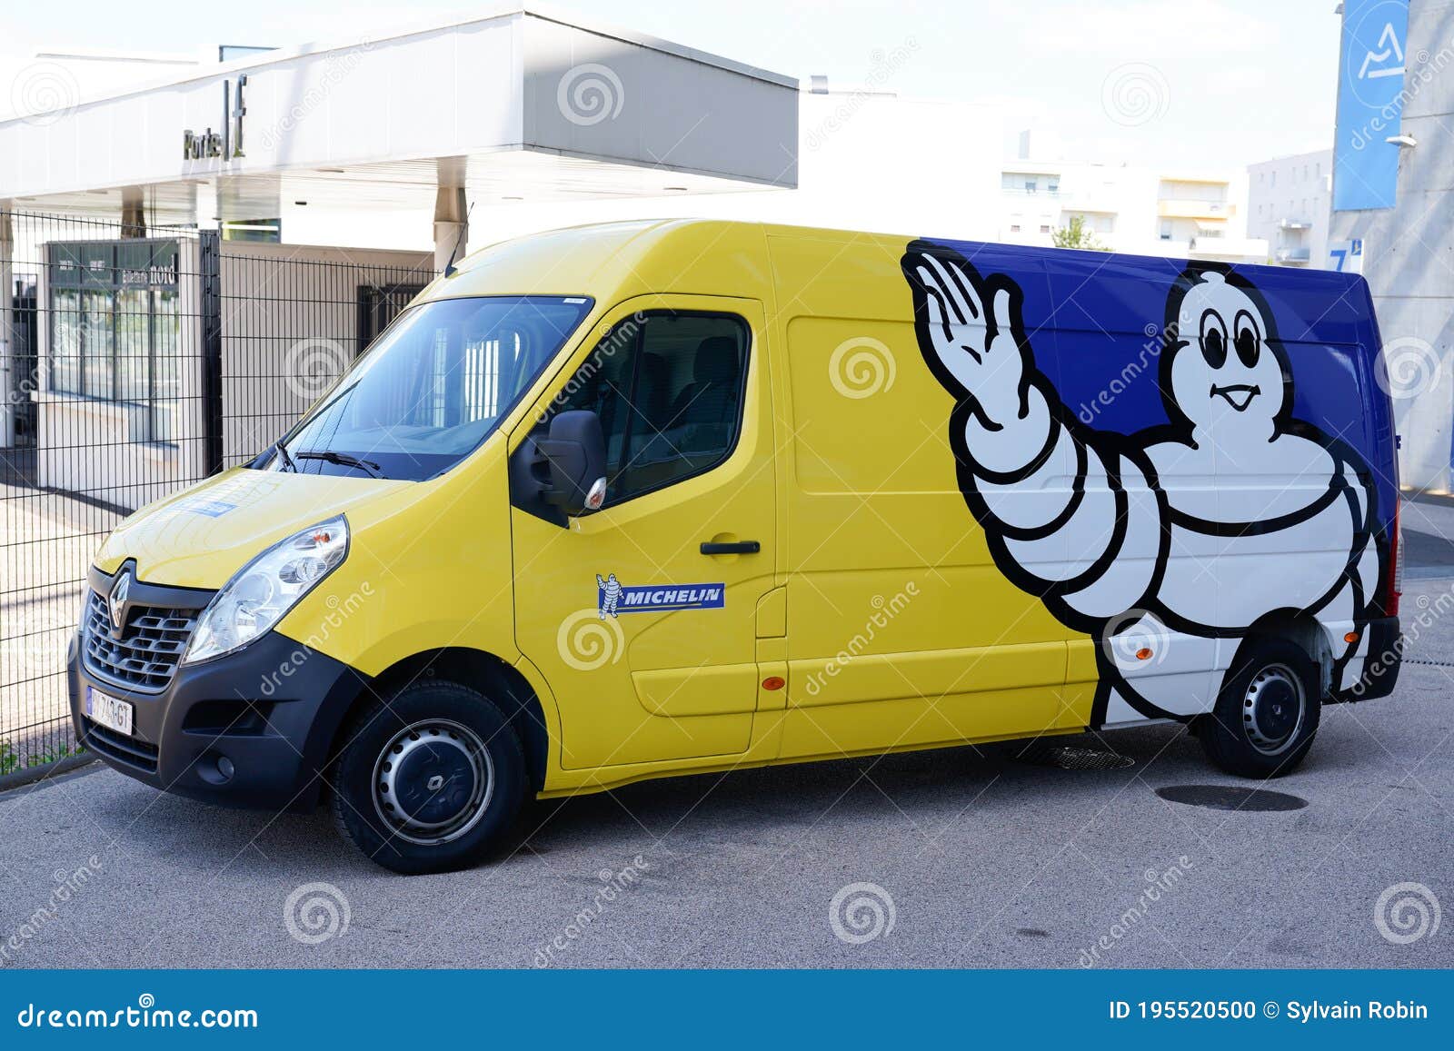
[[790, 77], [512, 9], [3, 121], [0, 199], [96, 212], [140, 190], [153, 221], [192, 222], [204, 186], [224, 220], [294, 199], [427, 208], [439, 188], [478, 201], [792, 188], [797, 94]]

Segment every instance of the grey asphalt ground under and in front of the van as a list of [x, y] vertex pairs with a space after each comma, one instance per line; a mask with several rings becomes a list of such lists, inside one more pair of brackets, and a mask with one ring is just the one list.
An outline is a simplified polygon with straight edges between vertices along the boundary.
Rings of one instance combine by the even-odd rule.
[[1147, 727], [1057, 741], [1122, 769], [995, 744], [532, 804], [493, 863], [403, 878], [323, 813], [93, 766], [0, 795], [0, 967], [1454, 967], [1454, 507], [1405, 529], [1399, 688], [1325, 709], [1268, 785], [1306, 807], [1162, 798], [1249, 782]]

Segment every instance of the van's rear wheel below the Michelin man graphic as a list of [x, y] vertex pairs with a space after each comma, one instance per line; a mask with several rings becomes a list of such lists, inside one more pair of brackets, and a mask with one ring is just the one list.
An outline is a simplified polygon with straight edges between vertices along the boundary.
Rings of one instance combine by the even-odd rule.
[[1242, 778], [1291, 773], [1317, 734], [1320, 682], [1317, 664], [1296, 643], [1248, 640], [1200, 727], [1207, 757]]

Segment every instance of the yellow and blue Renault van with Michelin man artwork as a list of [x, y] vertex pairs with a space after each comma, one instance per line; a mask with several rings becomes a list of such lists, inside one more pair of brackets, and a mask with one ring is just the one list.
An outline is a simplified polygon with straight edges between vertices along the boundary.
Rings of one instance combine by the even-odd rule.
[[1345, 273], [739, 222], [499, 244], [102, 545], [80, 741], [401, 872], [531, 797], [1188, 724], [1252, 778], [1399, 670]]

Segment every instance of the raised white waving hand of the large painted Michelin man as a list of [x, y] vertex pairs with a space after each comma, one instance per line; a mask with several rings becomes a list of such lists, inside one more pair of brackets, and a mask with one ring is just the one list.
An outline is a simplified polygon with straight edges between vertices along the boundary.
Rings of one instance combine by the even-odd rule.
[[980, 278], [967, 262], [928, 251], [910, 250], [903, 269], [915, 292], [920, 346], [932, 347], [948, 374], [941, 379], [952, 378], [963, 388], [989, 430], [1022, 419], [1028, 345], [1012, 286]]

